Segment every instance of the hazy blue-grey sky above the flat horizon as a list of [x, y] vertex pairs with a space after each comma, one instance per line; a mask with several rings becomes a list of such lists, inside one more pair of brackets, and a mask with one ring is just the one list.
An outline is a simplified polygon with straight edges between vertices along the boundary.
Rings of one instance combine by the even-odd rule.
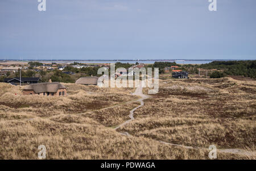
[[0, 1], [0, 59], [256, 60], [256, 1]]

